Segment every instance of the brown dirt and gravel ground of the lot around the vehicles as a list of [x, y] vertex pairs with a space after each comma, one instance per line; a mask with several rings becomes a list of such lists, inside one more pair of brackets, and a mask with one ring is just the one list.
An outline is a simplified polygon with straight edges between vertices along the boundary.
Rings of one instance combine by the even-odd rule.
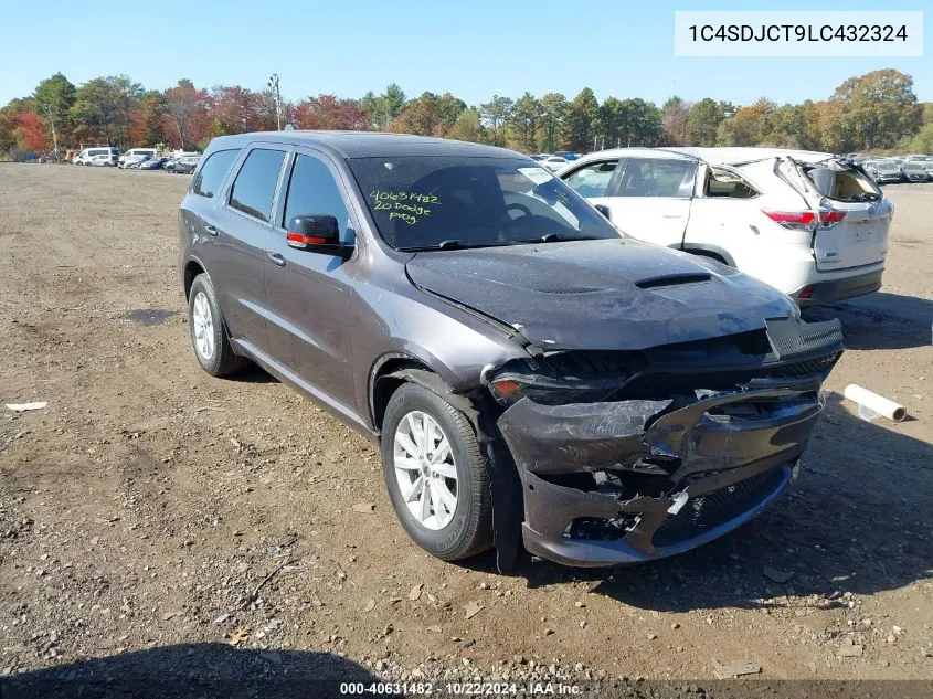
[[[503, 576], [411, 543], [365, 438], [199, 369], [188, 181], [0, 165], [0, 403], [47, 401], [0, 405], [0, 675], [204, 648], [219, 677], [933, 680], [933, 184], [887, 188], [883, 290], [809, 313], [848, 350], [792, 496], [674, 560]], [[910, 419], [860, 421], [848, 383]]]

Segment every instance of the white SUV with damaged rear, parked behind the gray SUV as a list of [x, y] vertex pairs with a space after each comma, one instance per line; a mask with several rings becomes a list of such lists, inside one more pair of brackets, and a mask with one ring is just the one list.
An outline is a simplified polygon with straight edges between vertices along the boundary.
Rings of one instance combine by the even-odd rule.
[[633, 237], [827, 304], [881, 287], [893, 205], [844, 161], [774, 148], [617, 148], [560, 177]]

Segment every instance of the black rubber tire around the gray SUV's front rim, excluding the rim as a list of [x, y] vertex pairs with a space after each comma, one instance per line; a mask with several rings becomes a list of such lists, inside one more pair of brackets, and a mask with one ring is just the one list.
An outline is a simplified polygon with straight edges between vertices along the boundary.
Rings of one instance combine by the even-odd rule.
[[[412, 515], [395, 477], [395, 432], [412, 411], [424, 412], [434, 419], [450, 443], [454, 456], [457, 505], [453, 519], [438, 530], [428, 529]], [[392, 507], [415, 543], [445, 561], [476, 555], [492, 546], [492, 501], [486, 460], [466, 415], [428, 389], [414, 383], [402, 384], [385, 409], [380, 451]]]

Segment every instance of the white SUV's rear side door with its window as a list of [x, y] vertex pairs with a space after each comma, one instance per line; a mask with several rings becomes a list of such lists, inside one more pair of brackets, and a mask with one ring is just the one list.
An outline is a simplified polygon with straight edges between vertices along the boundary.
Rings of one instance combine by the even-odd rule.
[[629, 157], [621, 160], [619, 167], [605, 201], [613, 223], [647, 243], [681, 247], [690, 219], [697, 161]]

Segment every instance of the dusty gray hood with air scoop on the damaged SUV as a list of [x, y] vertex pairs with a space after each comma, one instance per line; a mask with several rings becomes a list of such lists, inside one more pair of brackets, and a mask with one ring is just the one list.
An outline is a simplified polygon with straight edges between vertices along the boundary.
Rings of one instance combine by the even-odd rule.
[[781, 292], [731, 267], [630, 240], [418, 253], [406, 271], [415, 286], [544, 349], [646, 349], [796, 314]]

